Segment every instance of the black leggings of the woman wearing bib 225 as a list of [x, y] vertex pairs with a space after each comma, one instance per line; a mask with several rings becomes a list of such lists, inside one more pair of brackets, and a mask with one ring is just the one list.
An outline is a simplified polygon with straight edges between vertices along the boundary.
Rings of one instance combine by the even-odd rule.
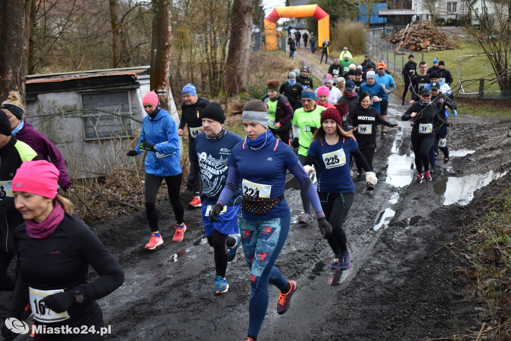
[[[350, 211], [355, 193], [321, 193], [318, 192], [321, 208], [327, 221], [332, 225], [332, 235], [328, 237], [328, 243], [334, 251], [336, 257], [341, 255], [341, 252], [348, 251], [346, 242], [346, 233], [342, 228], [344, 219]], [[342, 199], [344, 198], [344, 203]]]

